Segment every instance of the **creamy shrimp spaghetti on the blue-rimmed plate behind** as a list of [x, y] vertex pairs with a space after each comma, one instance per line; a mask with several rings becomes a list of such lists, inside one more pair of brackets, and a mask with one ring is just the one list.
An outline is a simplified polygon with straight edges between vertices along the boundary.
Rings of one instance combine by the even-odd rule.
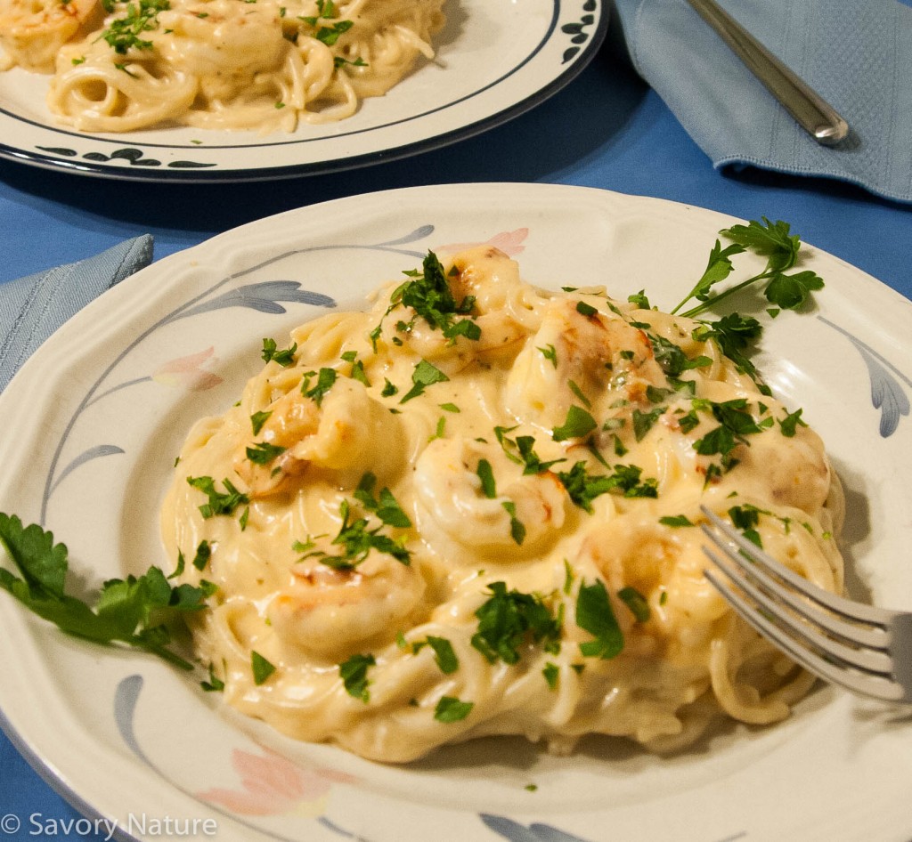
[[0, 0], [5, 67], [52, 73], [82, 131], [294, 131], [379, 97], [443, 26], [443, 0]]

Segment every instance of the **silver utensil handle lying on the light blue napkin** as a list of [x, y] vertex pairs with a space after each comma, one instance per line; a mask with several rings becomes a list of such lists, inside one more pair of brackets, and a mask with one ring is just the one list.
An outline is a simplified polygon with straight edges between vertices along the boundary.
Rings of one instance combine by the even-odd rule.
[[845, 139], [849, 133], [845, 119], [715, 0], [688, 2], [818, 143], [834, 146]]

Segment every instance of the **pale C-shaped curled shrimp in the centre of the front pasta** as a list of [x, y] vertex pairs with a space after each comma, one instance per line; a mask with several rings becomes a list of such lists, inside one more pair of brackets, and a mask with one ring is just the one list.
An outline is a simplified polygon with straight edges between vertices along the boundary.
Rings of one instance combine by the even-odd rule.
[[436, 439], [425, 448], [414, 476], [421, 528], [436, 527], [473, 549], [521, 555], [563, 527], [565, 488], [545, 472], [517, 477], [488, 497], [491, 489], [483, 488], [479, 475], [486, 456], [491, 454], [481, 443], [462, 437]]

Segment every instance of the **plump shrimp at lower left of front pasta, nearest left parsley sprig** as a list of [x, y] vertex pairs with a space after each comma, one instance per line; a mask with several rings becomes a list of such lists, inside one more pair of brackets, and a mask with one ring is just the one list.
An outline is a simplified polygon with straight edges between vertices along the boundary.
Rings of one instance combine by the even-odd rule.
[[344, 656], [358, 643], [401, 628], [420, 608], [423, 577], [389, 555], [372, 550], [351, 570], [308, 561], [292, 570], [290, 586], [266, 607], [273, 631], [294, 646]]

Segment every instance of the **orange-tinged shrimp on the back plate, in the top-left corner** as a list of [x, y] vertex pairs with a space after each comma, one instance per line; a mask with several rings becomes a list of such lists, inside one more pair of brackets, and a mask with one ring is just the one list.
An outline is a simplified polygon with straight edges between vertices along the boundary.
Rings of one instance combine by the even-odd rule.
[[2, 0], [0, 46], [13, 64], [52, 73], [60, 47], [102, 14], [98, 0]]

